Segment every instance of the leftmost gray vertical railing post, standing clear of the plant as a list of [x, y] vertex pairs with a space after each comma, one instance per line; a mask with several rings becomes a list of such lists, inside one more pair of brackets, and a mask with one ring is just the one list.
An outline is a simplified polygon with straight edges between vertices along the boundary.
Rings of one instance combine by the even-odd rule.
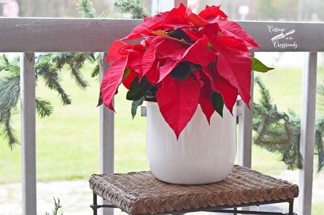
[[20, 54], [22, 215], [36, 215], [35, 53]]

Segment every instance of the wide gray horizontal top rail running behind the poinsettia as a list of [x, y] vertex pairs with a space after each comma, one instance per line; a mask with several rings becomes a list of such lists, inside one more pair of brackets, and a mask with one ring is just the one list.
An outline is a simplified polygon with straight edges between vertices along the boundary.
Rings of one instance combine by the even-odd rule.
[[[115, 39], [126, 36], [142, 22], [142, 19], [1, 17], [0, 52], [105, 52]], [[238, 23], [261, 46], [261, 51], [324, 51], [324, 22]], [[290, 34], [284, 35], [287, 33]], [[274, 38], [279, 34], [281, 38]]]

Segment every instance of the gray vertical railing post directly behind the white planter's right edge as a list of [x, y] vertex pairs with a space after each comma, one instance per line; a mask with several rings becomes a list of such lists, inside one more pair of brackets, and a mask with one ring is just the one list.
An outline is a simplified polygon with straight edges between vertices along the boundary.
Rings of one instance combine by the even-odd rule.
[[238, 120], [238, 164], [247, 168], [251, 168], [252, 155], [253, 88], [254, 71], [251, 72], [251, 110], [241, 100], [242, 115]]

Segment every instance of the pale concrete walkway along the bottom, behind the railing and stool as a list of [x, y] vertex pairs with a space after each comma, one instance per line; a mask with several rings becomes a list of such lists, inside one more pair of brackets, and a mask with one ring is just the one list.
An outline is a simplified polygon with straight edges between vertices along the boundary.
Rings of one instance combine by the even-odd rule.
[[[276, 177], [298, 184], [298, 171], [285, 170]], [[313, 188], [313, 202], [324, 204], [324, 173], [314, 175]], [[92, 192], [86, 180], [37, 183], [37, 215], [51, 213], [53, 197], [61, 200], [64, 215], [92, 215]], [[21, 184], [0, 185], [0, 215], [21, 215], [21, 210]], [[126, 215], [117, 209], [115, 214]]]

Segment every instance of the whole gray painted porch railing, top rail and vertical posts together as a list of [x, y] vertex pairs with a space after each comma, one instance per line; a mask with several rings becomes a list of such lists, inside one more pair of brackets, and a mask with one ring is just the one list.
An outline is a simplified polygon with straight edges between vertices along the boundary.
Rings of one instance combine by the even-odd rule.
[[[182, 2], [186, 3], [186, 0]], [[178, 0], [174, 0], [173, 4], [163, 4], [163, 10], [178, 3]], [[108, 64], [104, 63], [106, 58], [104, 52], [107, 52], [114, 39], [124, 37], [141, 22], [140, 19], [0, 18], [0, 52], [23, 52], [20, 67], [23, 215], [36, 214], [34, 52], [103, 52], [100, 54], [102, 77], [108, 68]], [[304, 168], [300, 171], [299, 215], [310, 215], [315, 137], [316, 63], [317, 52], [324, 51], [324, 23], [262, 21], [238, 23], [263, 48], [261, 51], [308, 52], [303, 70], [301, 154]], [[297, 47], [275, 47], [271, 38], [280, 32], [270, 32], [268, 26], [271, 25], [288, 31], [295, 29], [296, 33], [292, 40]], [[253, 94], [253, 85], [251, 93]], [[239, 164], [251, 167], [252, 112], [244, 105], [239, 118], [238, 139]], [[104, 106], [100, 108], [99, 157], [100, 172], [113, 173], [114, 114]], [[112, 213], [111, 210], [105, 212], [110, 215]]]

